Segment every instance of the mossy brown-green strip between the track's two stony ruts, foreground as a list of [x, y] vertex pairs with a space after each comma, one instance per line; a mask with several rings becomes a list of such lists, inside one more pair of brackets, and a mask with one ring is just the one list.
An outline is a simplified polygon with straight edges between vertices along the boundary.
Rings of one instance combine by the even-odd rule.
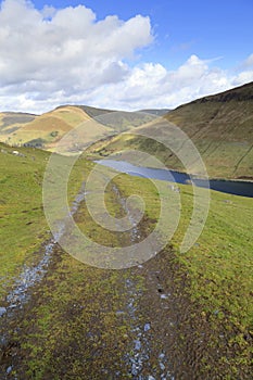
[[110, 368], [123, 366], [129, 333], [127, 318], [116, 315], [126, 302], [124, 277], [85, 266], [67, 254], [58, 259], [47, 278], [50, 288], [38, 290], [40, 305], [24, 326], [35, 327], [23, 344], [29, 357], [24, 376], [63, 379], [71, 373], [84, 379], [89, 373], [96, 379], [100, 371], [111, 378]]

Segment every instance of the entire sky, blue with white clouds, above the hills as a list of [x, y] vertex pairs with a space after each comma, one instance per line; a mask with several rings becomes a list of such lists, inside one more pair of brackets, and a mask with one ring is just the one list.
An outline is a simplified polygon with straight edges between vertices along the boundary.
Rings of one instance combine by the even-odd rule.
[[2, 106], [175, 107], [242, 85], [252, 14], [252, 0], [1, 1]]

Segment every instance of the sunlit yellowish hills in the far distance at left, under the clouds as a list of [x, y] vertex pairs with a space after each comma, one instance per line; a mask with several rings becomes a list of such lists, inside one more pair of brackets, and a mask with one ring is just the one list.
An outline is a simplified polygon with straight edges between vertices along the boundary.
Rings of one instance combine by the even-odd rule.
[[[106, 115], [106, 117], [103, 117]], [[84, 149], [93, 141], [136, 128], [153, 118], [151, 113], [115, 112], [88, 105], [61, 105], [42, 115], [0, 113], [0, 141], [12, 147], [34, 147], [55, 151], [62, 137], [73, 131], [68, 141], [61, 142], [61, 152]], [[94, 123], [93, 121], [98, 123]], [[89, 123], [90, 122], [90, 123]], [[74, 128], [81, 125], [81, 132]], [[58, 145], [59, 147], [59, 145]]]

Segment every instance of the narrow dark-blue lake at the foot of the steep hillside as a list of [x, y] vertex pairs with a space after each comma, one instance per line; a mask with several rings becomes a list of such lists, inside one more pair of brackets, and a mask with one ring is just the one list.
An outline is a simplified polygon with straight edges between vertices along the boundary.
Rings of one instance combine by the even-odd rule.
[[[186, 173], [179, 173], [168, 169], [155, 169], [150, 167], [135, 166], [125, 161], [114, 160], [100, 160], [96, 161], [98, 164], [112, 167], [118, 172], [129, 174], [131, 176], [161, 179], [167, 181], [174, 181], [176, 183], [187, 185], [191, 180], [190, 176]], [[210, 187], [212, 190], [236, 194], [241, 197], [253, 198], [253, 182], [248, 181], [233, 181], [233, 180], [220, 180], [211, 179], [210, 181], [204, 179], [193, 179], [194, 186], [202, 188]]]

